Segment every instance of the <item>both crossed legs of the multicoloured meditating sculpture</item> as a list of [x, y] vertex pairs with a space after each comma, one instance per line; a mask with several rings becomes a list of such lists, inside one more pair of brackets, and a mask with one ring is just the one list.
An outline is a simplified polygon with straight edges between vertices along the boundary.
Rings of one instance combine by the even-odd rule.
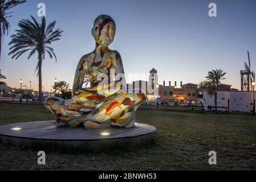
[[57, 117], [57, 127], [76, 127], [82, 123], [86, 129], [101, 127], [133, 127], [135, 111], [145, 100], [143, 93], [120, 93], [100, 104], [47, 98], [44, 105]]

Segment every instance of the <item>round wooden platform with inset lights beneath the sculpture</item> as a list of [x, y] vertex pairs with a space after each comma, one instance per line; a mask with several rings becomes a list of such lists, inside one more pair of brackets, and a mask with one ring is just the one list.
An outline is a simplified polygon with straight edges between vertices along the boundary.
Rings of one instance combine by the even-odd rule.
[[136, 127], [86, 130], [84, 127], [57, 128], [55, 121], [13, 123], [0, 126], [0, 141], [16, 147], [85, 148], [139, 144], [155, 138], [156, 128], [143, 123]]

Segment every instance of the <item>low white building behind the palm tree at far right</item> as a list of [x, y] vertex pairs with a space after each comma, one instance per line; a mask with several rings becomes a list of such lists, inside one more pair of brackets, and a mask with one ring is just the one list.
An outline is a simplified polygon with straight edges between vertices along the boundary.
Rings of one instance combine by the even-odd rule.
[[[256, 92], [254, 92], [256, 98]], [[205, 110], [208, 106], [214, 106], [214, 95], [210, 96], [206, 91], [203, 92], [203, 102]], [[217, 106], [227, 107], [230, 111], [251, 112], [253, 110], [253, 92], [226, 92], [218, 91]], [[225, 108], [218, 108], [218, 110], [225, 110]]]

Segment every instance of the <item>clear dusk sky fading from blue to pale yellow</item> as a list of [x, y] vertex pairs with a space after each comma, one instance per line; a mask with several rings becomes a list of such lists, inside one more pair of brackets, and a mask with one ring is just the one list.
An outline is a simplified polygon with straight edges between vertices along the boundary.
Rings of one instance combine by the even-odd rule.
[[[8, 56], [10, 35], [21, 19], [36, 19], [38, 3], [46, 5], [46, 20], [56, 20], [61, 40], [51, 44], [58, 58], [43, 61], [43, 87], [50, 90], [54, 78], [72, 85], [80, 57], [95, 48], [91, 28], [100, 14], [112, 16], [116, 22], [115, 40], [109, 46], [119, 51], [125, 74], [148, 73], [153, 67], [162, 81], [198, 84], [208, 71], [221, 68], [225, 84], [240, 88], [239, 72], [251, 56], [251, 69], [256, 69], [256, 1], [64, 1], [28, 0], [13, 9], [9, 18], [9, 35], [2, 41], [0, 69], [7, 84], [19, 88], [19, 80], [38, 90], [34, 73], [37, 56], [28, 54], [11, 59]], [[217, 5], [217, 17], [208, 15], [208, 5]], [[131, 81], [131, 80], [129, 80]]]

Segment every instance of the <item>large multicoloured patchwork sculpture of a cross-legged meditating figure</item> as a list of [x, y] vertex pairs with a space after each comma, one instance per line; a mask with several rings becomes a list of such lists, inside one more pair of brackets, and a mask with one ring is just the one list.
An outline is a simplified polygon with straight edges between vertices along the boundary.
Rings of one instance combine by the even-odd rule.
[[[76, 127], [84, 125], [86, 129], [102, 127], [133, 127], [135, 111], [146, 99], [143, 92], [120, 92], [124, 90], [118, 81], [107, 81], [100, 85], [101, 74], [111, 78], [124, 73], [119, 52], [108, 48], [115, 37], [115, 21], [108, 15], [99, 15], [92, 28], [96, 47], [91, 53], [82, 56], [76, 68], [72, 99], [63, 100], [49, 97], [44, 105], [56, 115], [57, 127]], [[85, 77], [86, 85], [83, 88]], [[110, 89], [115, 85], [114, 89]], [[105, 92], [105, 90], [108, 90]], [[125, 89], [126, 91], [126, 89]]]

